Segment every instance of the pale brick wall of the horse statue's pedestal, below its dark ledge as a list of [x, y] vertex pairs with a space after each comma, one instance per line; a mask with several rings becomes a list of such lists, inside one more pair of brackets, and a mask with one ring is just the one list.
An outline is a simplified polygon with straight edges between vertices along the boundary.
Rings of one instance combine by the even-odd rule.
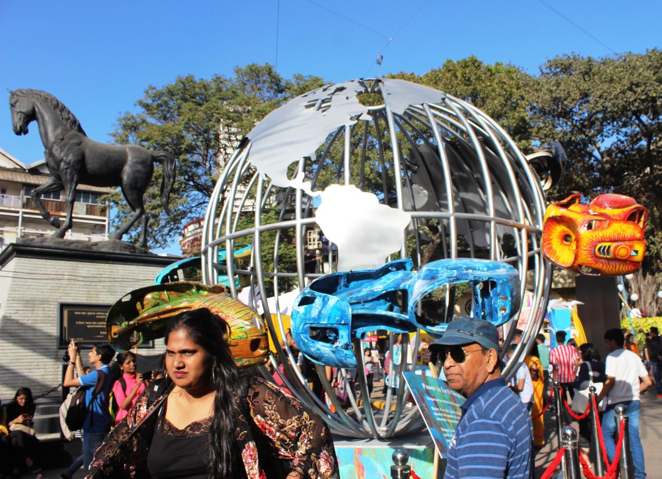
[[[0, 269], [0, 398], [17, 388], [33, 394], [62, 380], [58, 302], [113, 304], [127, 292], [154, 284], [160, 266], [112, 265], [13, 257]], [[163, 341], [142, 354], [164, 351]], [[83, 349], [83, 363], [87, 361]], [[57, 393], [55, 393], [57, 395]]]

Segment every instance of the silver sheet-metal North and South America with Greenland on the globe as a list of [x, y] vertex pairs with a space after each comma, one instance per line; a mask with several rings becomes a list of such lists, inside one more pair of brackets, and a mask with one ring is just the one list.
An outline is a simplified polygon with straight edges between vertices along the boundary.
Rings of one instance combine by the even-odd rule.
[[[395, 113], [404, 112], [410, 105], [437, 103], [444, 98], [438, 90], [408, 81], [385, 79], [382, 85], [384, 103]], [[314, 159], [317, 148], [338, 127], [371, 119], [368, 107], [357, 98], [363, 90], [357, 80], [313, 90], [269, 113], [247, 135], [252, 143], [250, 162], [262, 175], [280, 187], [322, 197], [316, 219], [324, 236], [338, 245], [338, 271], [383, 265], [389, 254], [401, 249], [404, 228], [410, 222], [408, 213], [379, 204], [374, 193], [361, 192], [353, 185], [332, 185], [313, 192], [303, 172], [291, 180], [287, 177], [289, 165], [303, 157]], [[296, 136], [291, 134], [293, 131]], [[350, 198], [356, 203], [352, 204]]]

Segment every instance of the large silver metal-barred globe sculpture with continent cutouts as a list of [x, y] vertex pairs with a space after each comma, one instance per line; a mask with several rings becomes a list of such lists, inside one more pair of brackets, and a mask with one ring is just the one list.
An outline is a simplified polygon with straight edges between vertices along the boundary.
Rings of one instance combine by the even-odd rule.
[[[343, 408], [328, 368], [317, 364], [326, 392], [320, 399], [285, 340], [284, 303], [291, 306], [299, 290], [328, 273], [374, 269], [398, 258], [411, 258], [414, 270], [444, 258], [502, 261], [518, 271], [520, 295], [525, 288], [534, 292], [522, 341], [506, 366], [510, 376], [547, 307], [551, 268], [540, 249], [544, 212], [538, 175], [481, 110], [407, 81], [355, 79], [289, 101], [242, 140], [207, 210], [203, 280], [238, 278], [228, 282], [235, 297], [236, 284], [246, 286], [242, 295], [248, 292], [248, 301], [265, 313], [285, 385], [325, 417], [334, 433], [401, 436], [424, 427], [418, 410], [406, 404], [404, 381], [387, 388], [377, 408], [365, 400], [359, 363], [357, 391], [364, 400], [349, 388]], [[252, 246], [252, 257], [240, 269], [224, 252], [245, 245]], [[467, 293], [454, 286], [442, 288], [430, 302], [436, 305], [430, 316], [446, 323], [465, 315], [456, 306], [462, 294]], [[514, 324], [508, 325], [511, 335]], [[389, 336], [393, 351], [399, 340]], [[401, 365], [391, 368], [414, 370], [420, 330], [401, 341]], [[361, 339], [353, 345], [360, 357]], [[408, 351], [414, 351], [411, 363]], [[276, 365], [273, 356], [271, 361]]]

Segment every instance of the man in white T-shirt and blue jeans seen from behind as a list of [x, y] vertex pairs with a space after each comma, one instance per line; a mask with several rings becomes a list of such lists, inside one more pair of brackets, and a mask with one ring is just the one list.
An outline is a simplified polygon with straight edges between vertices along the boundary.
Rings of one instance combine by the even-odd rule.
[[[626, 408], [628, 415], [628, 434], [630, 436], [630, 449], [632, 462], [634, 462], [635, 479], [645, 479], [646, 473], [643, 464], [643, 448], [639, 439], [639, 393], [645, 391], [653, 382], [648, 376], [639, 356], [628, 349], [623, 349], [625, 335], [620, 329], [609, 329], [604, 333], [604, 345], [608, 351], [605, 362], [607, 380], [598, 394], [598, 403], [606, 396], [607, 410], [602, 416], [602, 436], [604, 447], [609, 460], [614, 459], [616, 453], [616, 422], [614, 417], [617, 404]], [[641, 380], [641, 384], [639, 384]]]

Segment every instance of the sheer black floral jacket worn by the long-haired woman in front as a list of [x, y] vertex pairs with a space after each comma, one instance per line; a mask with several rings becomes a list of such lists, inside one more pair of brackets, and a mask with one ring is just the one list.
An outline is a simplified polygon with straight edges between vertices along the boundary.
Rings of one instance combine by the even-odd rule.
[[[150, 478], [147, 457], [158, 411], [172, 386], [158, 380], [140, 395], [95, 453], [86, 479]], [[338, 479], [328, 426], [279, 386], [254, 378], [236, 417], [238, 451], [248, 479]]]

